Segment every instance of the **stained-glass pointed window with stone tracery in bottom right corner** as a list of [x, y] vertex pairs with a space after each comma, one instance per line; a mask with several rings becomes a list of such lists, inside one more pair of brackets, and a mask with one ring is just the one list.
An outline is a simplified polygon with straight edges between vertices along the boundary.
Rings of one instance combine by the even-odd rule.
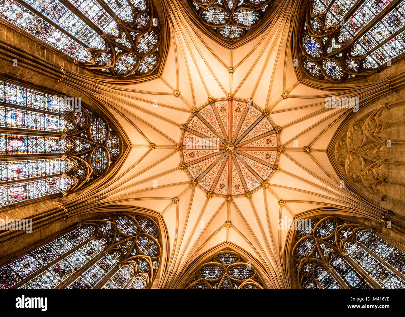
[[405, 289], [405, 253], [361, 225], [333, 216], [306, 219], [295, 241], [303, 289]]

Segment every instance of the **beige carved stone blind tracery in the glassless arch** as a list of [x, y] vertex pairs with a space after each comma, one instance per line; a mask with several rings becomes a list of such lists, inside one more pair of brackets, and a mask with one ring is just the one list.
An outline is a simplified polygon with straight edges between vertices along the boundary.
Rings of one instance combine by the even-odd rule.
[[388, 127], [386, 108], [377, 109], [353, 123], [335, 144], [335, 159], [352, 181], [386, 195], [388, 147], [382, 131]]

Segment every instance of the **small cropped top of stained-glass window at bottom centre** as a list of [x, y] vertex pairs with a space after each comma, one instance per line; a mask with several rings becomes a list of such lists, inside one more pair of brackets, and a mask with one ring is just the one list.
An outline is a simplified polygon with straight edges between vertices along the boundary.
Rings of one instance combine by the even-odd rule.
[[187, 289], [265, 288], [252, 262], [230, 250], [215, 253], [209, 262], [198, 266], [187, 285]]

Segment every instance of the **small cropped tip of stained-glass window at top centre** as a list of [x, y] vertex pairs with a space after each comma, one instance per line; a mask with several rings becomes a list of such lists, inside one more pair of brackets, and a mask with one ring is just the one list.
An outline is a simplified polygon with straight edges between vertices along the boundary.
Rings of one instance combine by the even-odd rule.
[[205, 27], [229, 43], [254, 32], [273, 0], [188, 0]]

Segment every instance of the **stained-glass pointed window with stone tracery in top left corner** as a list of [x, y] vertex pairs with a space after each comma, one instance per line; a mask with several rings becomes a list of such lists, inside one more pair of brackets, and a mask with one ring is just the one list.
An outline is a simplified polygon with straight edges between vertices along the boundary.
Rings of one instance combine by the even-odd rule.
[[4, 0], [0, 17], [104, 75], [149, 75], [160, 63], [151, 0]]

